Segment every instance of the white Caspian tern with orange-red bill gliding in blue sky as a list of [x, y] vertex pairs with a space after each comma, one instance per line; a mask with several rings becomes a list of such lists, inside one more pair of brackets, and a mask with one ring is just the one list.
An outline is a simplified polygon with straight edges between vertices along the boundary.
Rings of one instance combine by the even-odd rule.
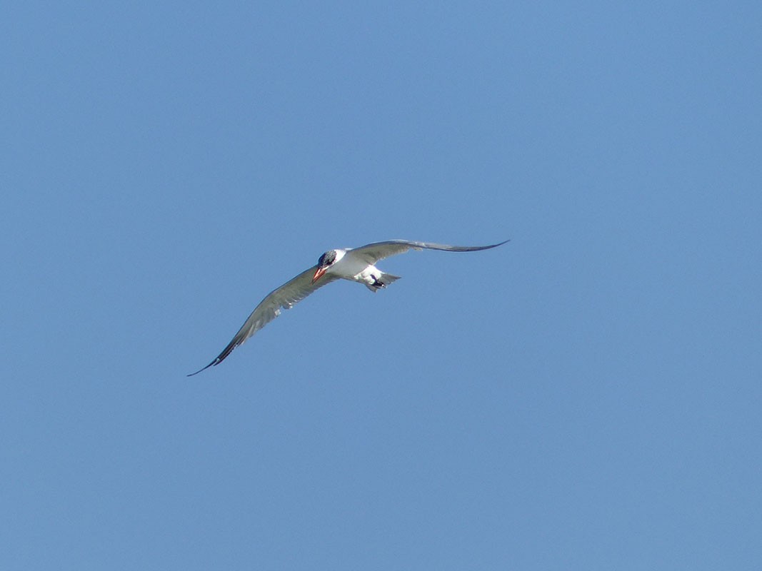
[[235, 337], [223, 349], [223, 352], [219, 353], [216, 359], [210, 362], [209, 365], [187, 376], [192, 377], [206, 368], [219, 365], [229, 356], [235, 347], [241, 345], [245, 340], [280, 315], [281, 309], [293, 308], [298, 301], [302, 301], [316, 289], [322, 288], [323, 285], [331, 283], [336, 279], [341, 278], [352, 282], [360, 282], [374, 293], [399, 279], [399, 276], [392, 276], [392, 274], [382, 272], [376, 268], [374, 264], [378, 260], [383, 260], [396, 254], [403, 254], [410, 249], [475, 252], [478, 250], [489, 250], [490, 248], [501, 246], [505, 242], [507, 240], [499, 244], [490, 244], [489, 246], [448, 246], [447, 244], [431, 244], [430, 242], [388, 240], [374, 242], [359, 248], [328, 250], [319, 258], [317, 265], [303, 271], [298, 276], [281, 285], [280, 288], [270, 292], [259, 302], [255, 310], [251, 312], [251, 315], [248, 316], [239, 332], [235, 333]]

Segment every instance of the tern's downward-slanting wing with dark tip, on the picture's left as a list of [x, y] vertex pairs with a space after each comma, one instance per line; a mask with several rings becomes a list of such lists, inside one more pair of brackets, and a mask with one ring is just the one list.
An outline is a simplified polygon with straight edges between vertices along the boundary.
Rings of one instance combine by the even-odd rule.
[[248, 316], [248, 319], [241, 326], [239, 332], [235, 333], [235, 337], [233, 337], [230, 343], [228, 343], [228, 346], [223, 349], [223, 352], [219, 353], [216, 359], [210, 362], [209, 365], [200, 368], [197, 372], [187, 376], [192, 377], [193, 375], [202, 372], [205, 368], [219, 365], [219, 363], [223, 362], [223, 359], [229, 356], [230, 352], [232, 352], [235, 347], [241, 345], [245, 340], [280, 315], [281, 309], [293, 308], [296, 303], [302, 301], [316, 289], [322, 288], [323, 285], [338, 279], [336, 276], [326, 274], [323, 279], [319, 279], [318, 282], [312, 283], [312, 276], [315, 275], [316, 269], [317, 266], [312, 266], [309, 270], [303, 271], [299, 276], [296, 276], [281, 285], [280, 288], [270, 292], [267, 297], [259, 302], [259, 305], [254, 311], [251, 312], [251, 315]]

